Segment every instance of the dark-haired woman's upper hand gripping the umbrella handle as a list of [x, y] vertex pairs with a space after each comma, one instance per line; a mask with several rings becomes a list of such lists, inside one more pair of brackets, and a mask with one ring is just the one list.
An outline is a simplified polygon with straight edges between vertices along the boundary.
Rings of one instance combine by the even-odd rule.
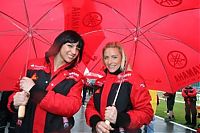
[[19, 82], [20, 89], [25, 92], [29, 92], [34, 85], [34, 81], [28, 77], [23, 77]]

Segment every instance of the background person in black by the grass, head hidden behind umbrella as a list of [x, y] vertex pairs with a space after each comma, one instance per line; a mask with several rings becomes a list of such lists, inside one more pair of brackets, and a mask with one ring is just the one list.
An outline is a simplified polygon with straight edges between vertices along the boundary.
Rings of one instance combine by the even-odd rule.
[[175, 120], [173, 108], [175, 104], [176, 93], [164, 93], [163, 96], [167, 98], [167, 118], [165, 118], [166, 122]]

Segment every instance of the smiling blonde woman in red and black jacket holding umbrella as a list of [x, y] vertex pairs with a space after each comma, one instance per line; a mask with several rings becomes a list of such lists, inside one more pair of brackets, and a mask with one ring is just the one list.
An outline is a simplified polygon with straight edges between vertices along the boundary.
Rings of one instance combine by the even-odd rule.
[[103, 48], [106, 76], [98, 80], [100, 86], [86, 106], [86, 123], [96, 133], [140, 132], [153, 119], [150, 94], [139, 76], [125, 69], [126, 56], [120, 45], [109, 42]]

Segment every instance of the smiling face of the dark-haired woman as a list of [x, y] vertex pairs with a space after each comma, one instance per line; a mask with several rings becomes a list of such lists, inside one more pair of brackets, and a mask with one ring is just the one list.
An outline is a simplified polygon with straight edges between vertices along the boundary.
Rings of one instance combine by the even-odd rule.
[[80, 48], [77, 43], [65, 43], [60, 49], [60, 56], [62, 60], [71, 63], [79, 54]]

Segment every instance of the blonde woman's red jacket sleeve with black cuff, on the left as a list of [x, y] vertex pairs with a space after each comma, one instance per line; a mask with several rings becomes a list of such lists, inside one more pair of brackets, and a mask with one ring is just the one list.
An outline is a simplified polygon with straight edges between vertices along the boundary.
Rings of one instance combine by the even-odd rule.
[[90, 98], [86, 110], [85, 110], [85, 118], [87, 125], [91, 127], [96, 127], [96, 124], [101, 121], [101, 117], [99, 112], [94, 107], [94, 98], [93, 96]]

